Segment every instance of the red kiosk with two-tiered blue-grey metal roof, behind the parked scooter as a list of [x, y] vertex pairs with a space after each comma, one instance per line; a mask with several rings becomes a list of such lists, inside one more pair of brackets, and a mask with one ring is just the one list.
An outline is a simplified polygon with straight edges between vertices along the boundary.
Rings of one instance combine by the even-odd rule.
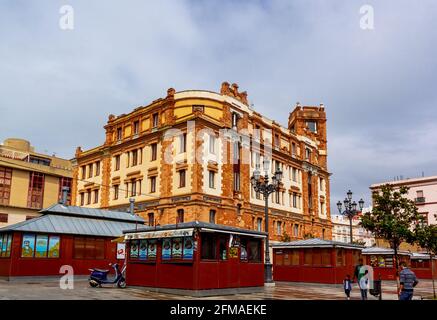
[[117, 259], [112, 240], [144, 220], [126, 212], [55, 204], [42, 216], [0, 229], [0, 277], [59, 276], [63, 265], [75, 275], [107, 269]]

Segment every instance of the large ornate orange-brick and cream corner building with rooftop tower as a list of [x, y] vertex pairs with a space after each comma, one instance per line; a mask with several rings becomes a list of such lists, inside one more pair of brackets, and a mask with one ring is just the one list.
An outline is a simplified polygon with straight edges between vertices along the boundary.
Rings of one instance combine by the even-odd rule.
[[269, 199], [272, 240], [331, 239], [324, 106], [300, 106], [288, 127], [249, 107], [246, 92], [168, 89], [128, 114], [109, 115], [106, 140], [76, 150], [73, 203], [135, 211], [148, 225], [193, 220], [264, 231], [264, 200], [250, 177], [283, 171]]

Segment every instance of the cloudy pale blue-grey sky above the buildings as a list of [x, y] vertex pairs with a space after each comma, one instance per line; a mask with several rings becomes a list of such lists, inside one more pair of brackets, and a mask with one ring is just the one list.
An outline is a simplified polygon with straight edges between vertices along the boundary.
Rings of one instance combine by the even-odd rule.
[[437, 175], [436, 39], [435, 0], [2, 0], [0, 141], [72, 158], [109, 114], [236, 82], [284, 126], [324, 103], [332, 213], [348, 189], [367, 206], [373, 183]]

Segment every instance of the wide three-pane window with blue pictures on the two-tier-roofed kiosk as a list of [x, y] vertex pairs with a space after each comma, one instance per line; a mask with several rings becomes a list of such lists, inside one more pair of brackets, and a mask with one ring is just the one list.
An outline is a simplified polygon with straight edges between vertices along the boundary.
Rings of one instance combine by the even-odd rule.
[[22, 258], [59, 258], [60, 237], [25, 233], [21, 242]]

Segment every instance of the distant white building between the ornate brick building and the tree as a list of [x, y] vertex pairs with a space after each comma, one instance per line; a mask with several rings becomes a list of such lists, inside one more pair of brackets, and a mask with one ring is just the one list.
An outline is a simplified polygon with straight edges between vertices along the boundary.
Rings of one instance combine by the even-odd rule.
[[[370, 210], [370, 209], [367, 209]], [[364, 209], [363, 211], [366, 211]], [[342, 215], [332, 215], [332, 240], [339, 242], [350, 242], [349, 219]], [[354, 241], [363, 242], [366, 247], [375, 245], [375, 237], [364, 228], [359, 226], [359, 216], [352, 220], [352, 236]]]

